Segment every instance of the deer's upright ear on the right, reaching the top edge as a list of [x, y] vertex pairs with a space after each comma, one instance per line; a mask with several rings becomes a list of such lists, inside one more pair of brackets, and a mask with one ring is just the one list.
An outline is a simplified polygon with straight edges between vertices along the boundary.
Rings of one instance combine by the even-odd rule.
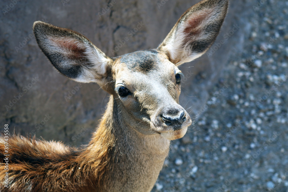
[[227, 8], [228, 0], [204, 0], [190, 7], [157, 49], [177, 66], [200, 57], [219, 34]]

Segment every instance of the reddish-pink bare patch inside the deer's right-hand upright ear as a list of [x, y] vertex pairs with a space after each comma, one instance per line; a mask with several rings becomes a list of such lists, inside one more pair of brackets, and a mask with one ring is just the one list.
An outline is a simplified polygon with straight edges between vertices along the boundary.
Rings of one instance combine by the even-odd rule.
[[212, 12], [212, 9], [204, 9], [191, 14], [190, 18], [186, 21], [184, 33], [189, 35], [200, 34], [205, 27], [205, 20], [209, 18]]

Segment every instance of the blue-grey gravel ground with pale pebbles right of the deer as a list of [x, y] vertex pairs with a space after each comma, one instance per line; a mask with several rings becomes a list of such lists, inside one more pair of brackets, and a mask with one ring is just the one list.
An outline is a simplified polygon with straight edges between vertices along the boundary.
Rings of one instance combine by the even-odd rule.
[[288, 2], [251, 5], [243, 51], [171, 142], [152, 191], [288, 191]]

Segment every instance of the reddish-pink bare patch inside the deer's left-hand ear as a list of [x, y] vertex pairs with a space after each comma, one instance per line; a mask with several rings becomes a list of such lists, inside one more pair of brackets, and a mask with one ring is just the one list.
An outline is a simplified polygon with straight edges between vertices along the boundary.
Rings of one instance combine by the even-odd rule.
[[86, 56], [85, 50], [86, 48], [83, 46], [81, 47], [80, 42], [74, 39], [60, 39], [60, 38], [54, 38], [50, 39], [60, 49], [63, 49], [66, 56], [70, 57], [71, 59], [76, 59], [79, 57]]

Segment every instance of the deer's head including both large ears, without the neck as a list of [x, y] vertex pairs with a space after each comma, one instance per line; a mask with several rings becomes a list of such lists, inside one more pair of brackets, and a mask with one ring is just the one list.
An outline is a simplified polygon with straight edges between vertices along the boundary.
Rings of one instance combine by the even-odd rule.
[[37, 21], [37, 43], [53, 66], [79, 82], [96, 82], [117, 101], [121, 121], [144, 135], [184, 136], [192, 121], [179, 105], [178, 66], [204, 54], [215, 41], [228, 0], [205, 0], [188, 9], [156, 49], [109, 58], [83, 35]]

